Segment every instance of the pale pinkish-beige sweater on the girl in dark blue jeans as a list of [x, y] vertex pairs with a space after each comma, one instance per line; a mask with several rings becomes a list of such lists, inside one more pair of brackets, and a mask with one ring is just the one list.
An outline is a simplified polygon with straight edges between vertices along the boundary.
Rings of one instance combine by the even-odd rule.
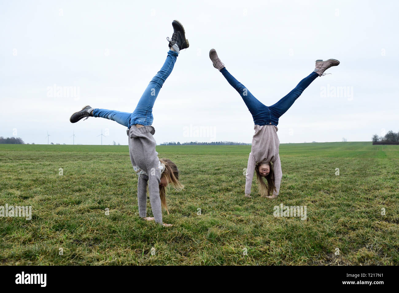
[[278, 195], [282, 177], [279, 156], [280, 140], [277, 136], [277, 131], [279, 129], [274, 125], [259, 126], [256, 124], [254, 129], [255, 134], [252, 138], [251, 153], [249, 153], [247, 173], [245, 174], [245, 193], [251, 193], [252, 179], [256, 163], [272, 162], [275, 173], [274, 183], [276, 186], [276, 191], [273, 191], [273, 194]]

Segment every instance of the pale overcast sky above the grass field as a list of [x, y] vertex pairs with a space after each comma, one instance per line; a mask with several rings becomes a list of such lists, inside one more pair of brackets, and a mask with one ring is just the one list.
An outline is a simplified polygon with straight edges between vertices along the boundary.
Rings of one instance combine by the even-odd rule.
[[[212, 48], [267, 106], [309, 75], [316, 59], [340, 60], [280, 118], [280, 143], [371, 141], [399, 130], [398, 2], [0, 3], [0, 136], [47, 144], [48, 131], [50, 142], [72, 144], [74, 132], [75, 144], [100, 144], [103, 131], [103, 144], [127, 144], [117, 122], [71, 124], [69, 117], [85, 105], [132, 112], [166, 59], [174, 19], [190, 47], [154, 105], [158, 144], [251, 142], [252, 116], [213, 68]], [[53, 87], [75, 92], [57, 96]]]

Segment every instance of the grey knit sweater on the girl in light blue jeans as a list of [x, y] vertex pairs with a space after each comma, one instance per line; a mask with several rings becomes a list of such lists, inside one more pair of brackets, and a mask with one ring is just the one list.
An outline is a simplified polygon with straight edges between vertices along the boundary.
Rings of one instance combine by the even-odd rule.
[[161, 169], [158, 153], [155, 151], [156, 142], [152, 136], [155, 129], [152, 126], [136, 128], [132, 125], [128, 130], [129, 152], [132, 165], [145, 171], [147, 175], [138, 175], [137, 201], [140, 217], [147, 216], [147, 184], [150, 193], [152, 214], [156, 223], [162, 224], [162, 208], [159, 196]]

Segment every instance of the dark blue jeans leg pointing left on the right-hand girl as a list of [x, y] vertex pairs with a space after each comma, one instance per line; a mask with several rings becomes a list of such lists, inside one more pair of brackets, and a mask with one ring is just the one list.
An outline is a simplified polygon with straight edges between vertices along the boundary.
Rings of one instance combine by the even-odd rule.
[[251, 92], [249, 92], [242, 83], [237, 81], [237, 79], [227, 71], [226, 67], [224, 67], [220, 72], [223, 74], [225, 79], [227, 79], [229, 84], [237, 90], [241, 95], [241, 98], [243, 98], [245, 105], [247, 105], [249, 112], [252, 114], [253, 122], [257, 125], [269, 124], [267, 123], [270, 121], [269, 108], [259, 102], [259, 100], [257, 100], [257, 98], [255, 98], [255, 96], [253, 96], [253, 94], [251, 94]]

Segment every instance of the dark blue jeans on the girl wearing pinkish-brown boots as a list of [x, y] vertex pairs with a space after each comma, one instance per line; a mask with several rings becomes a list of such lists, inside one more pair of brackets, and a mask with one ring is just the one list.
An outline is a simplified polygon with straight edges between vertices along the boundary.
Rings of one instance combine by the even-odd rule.
[[310, 83], [312, 83], [312, 81], [319, 76], [315, 72], [310, 73], [310, 75], [302, 79], [302, 81], [300, 81], [298, 85], [286, 96], [280, 99], [276, 104], [268, 107], [259, 102], [259, 100], [257, 100], [257, 98], [255, 98], [253, 94], [251, 94], [251, 92], [249, 92], [249, 90], [243, 86], [242, 83], [237, 81], [237, 79], [235, 79], [233, 75], [227, 71], [226, 67], [224, 67], [220, 72], [227, 79], [229, 84], [235, 88], [235, 90], [237, 90], [237, 92], [243, 98], [249, 112], [252, 114], [254, 124], [269, 124], [275, 126], [279, 124], [279, 118], [282, 116], [282, 114], [287, 112], [287, 110], [290, 108], [290, 106], [292, 106], [292, 104], [294, 104], [295, 100], [302, 94], [305, 88], [307, 88], [308, 85], [310, 85]]

